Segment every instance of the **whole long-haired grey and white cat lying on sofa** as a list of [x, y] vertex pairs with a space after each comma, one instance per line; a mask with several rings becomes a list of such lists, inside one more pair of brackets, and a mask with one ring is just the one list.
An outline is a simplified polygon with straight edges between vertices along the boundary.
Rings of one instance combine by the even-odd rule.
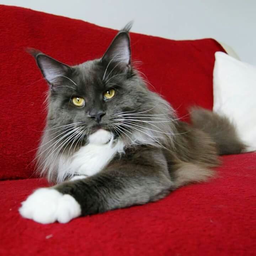
[[131, 63], [128, 23], [101, 59], [68, 66], [30, 49], [49, 84], [47, 124], [36, 159], [57, 185], [19, 209], [39, 223], [157, 201], [213, 177], [218, 155], [245, 145], [228, 118], [193, 107], [180, 121]]

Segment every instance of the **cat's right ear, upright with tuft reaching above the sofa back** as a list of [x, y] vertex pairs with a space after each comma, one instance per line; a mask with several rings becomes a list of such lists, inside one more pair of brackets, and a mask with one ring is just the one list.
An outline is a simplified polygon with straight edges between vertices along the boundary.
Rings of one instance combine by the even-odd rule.
[[111, 42], [102, 57], [102, 62], [105, 64], [120, 63], [121, 65], [130, 65], [130, 36], [129, 30], [132, 27], [132, 22], [129, 22]]

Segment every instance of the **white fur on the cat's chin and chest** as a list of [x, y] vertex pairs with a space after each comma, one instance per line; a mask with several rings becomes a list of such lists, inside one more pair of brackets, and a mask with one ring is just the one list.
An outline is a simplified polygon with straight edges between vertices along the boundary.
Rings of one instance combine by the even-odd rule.
[[100, 129], [89, 137], [89, 144], [82, 146], [70, 159], [60, 159], [59, 181], [66, 176], [91, 176], [100, 172], [116, 155], [121, 153], [124, 143], [113, 141], [113, 134]]

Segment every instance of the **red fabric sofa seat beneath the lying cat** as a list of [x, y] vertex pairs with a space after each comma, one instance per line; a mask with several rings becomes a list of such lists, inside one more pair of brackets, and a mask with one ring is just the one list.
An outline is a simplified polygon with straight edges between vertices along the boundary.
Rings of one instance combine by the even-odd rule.
[[42, 225], [18, 214], [45, 180], [1, 181], [0, 255], [255, 255], [256, 153], [222, 160], [209, 183], [67, 224]]

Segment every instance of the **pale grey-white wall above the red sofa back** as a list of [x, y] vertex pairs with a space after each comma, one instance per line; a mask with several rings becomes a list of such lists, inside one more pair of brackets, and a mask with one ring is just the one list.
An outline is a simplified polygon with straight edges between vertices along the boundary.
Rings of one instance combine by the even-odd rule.
[[212, 37], [256, 64], [256, 0], [0, 0], [0, 4], [78, 18], [170, 39]]

